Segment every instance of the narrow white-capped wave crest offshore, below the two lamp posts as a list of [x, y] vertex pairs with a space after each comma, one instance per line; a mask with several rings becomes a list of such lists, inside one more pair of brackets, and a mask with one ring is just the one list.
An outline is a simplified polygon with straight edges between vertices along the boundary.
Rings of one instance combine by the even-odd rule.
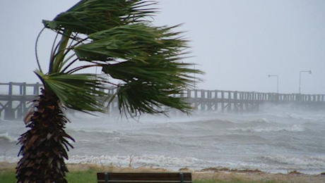
[[293, 125], [291, 127], [236, 127], [228, 130], [239, 132], [305, 132], [306, 128], [300, 125]]

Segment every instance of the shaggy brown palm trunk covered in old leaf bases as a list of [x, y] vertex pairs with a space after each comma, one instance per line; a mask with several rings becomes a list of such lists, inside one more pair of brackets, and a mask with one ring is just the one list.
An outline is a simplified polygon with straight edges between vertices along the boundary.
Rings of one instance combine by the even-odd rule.
[[[66, 182], [68, 169], [64, 158], [68, 159], [70, 137], [64, 131], [69, 120], [64, 116], [58, 97], [42, 89], [35, 101], [35, 110], [27, 122], [28, 132], [19, 138], [22, 145], [19, 154], [23, 156], [17, 165], [17, 182]], [[73, 148], [73, 146], [71, 146]]]

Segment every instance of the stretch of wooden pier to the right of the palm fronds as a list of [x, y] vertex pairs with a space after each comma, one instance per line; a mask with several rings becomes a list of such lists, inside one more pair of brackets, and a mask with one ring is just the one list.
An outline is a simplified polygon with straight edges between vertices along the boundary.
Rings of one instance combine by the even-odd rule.
[[325, 108], [325, 94], [278, 94], [224, 90], [187, 90], [188, 101], [196, 110], [244, 113], [259, 111], [263, 104], [287, 105], [290, 108]]

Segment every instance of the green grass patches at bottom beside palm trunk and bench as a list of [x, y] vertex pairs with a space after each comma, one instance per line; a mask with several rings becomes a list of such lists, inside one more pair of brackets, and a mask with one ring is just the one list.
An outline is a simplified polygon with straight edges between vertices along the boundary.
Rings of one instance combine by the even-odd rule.
[[[95, 183], [97, 182], [96, 173], [100, 172], [100, 170], [96, 169], [89, 169], [83, 171], [71, 171], [67, 173], [66, 180], [69, 183]], [[0, 182], [1, 183], [13, 183], [16, 182], [15, 178], [15, 171], [14, 170], [3, 170], [0, 172]], [[266, 181], [266, 182], [247, 182], [244, 180], [230, 180], [230, 181], [223, 181], [218, 179], [194, 179], [193, 183], [279, 183], [276, 181]], [[285, 183], [285, 182], [282, 182]]]

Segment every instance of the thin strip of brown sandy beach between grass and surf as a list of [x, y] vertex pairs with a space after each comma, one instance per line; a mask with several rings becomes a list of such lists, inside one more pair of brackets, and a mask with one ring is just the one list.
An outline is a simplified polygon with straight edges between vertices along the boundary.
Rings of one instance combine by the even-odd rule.
[[[0, 163], [0, 172], [15, 170], [16, 163]], [[69, 164], [69, 171], [87, 171], [90, 169], [98, 172], [172, 172], [165, 168], [151, 167], [117, 167], [114, 165], [101, 166], [90, 164]], [[325, 172], [320, 175], [306, 175], [300, 172], [268, 173], [259, 170], [230, 170], [228, 168], [206, 168], [203, 170], [190, 170], [188, 168], [179, 169], [182, 172], [191, 172], [193, 180], [223, 180], [232, 181], [256, 181], [256, 182], [297, 182], [297, 183], [324, 183]]]

